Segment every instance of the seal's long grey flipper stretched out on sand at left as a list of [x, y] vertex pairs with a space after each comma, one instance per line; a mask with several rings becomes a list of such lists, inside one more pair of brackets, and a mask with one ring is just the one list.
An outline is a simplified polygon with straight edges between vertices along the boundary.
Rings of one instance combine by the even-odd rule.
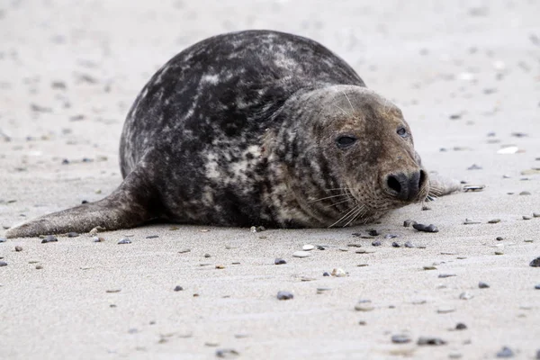
[[139, 166], [121, 185], [99, 202], [53, 212], [8, 229], [6, 238], [87, 232], [97, 226], [107, 230], [132, 228], [157, 218], [159, 197]]

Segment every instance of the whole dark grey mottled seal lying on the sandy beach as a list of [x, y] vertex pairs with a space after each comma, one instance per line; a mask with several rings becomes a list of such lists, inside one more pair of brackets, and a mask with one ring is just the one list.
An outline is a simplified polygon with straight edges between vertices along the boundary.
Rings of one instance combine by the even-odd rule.
[[6, 235], [153, 219], [347, 226], [429, 188], [401, 111], [329, 49], [276, 31], [216, 36], [172, 58], [131, 107], [120, 155], [125, 179], [110, 196]]

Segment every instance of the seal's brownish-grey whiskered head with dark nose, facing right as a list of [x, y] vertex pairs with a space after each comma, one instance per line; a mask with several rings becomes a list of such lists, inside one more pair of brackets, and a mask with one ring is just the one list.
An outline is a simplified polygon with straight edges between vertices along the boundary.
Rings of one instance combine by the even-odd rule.
[[426, 198], [428, 173], [396, 105], [350, 85], [315, 90], [304, 99], [312, 104], [298, 112], [307, 121], [294, 141], [310, 172], [299, 175], [316, 184], [302, 201], [311, 216], [326, 226], [347, 226]]

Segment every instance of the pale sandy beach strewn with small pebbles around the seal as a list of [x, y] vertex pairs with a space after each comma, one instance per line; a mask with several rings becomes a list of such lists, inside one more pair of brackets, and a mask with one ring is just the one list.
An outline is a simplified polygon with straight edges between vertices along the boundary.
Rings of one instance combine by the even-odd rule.
[[[0, 238], [121, 184], [142, 86], [226, 31], [320, 41], [401, 107], [429, 171], [486, 186], [345, 229], [7, 239], [0, 358], [540, 358], [539, 14], [527, 0], [0, 4]], [[323, 276], [334, 269], [345, 276]]]

